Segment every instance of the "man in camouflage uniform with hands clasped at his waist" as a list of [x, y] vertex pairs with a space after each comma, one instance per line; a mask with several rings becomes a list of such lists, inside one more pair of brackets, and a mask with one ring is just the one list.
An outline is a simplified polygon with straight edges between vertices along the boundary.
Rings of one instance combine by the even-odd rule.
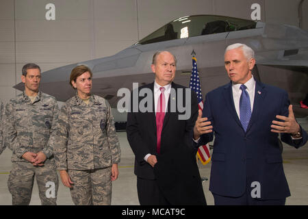
[[23, 66], [25, 91], [5, 107], [5, 146], [12, 150], [12, 170], [8, 188], [13, 205], [29, 205], [34, 184], [38, 183], [42, 205], [56, 205], [58, 179], [49, 136], [58, 116], [53, 96], [38, 91], [40, 67]]

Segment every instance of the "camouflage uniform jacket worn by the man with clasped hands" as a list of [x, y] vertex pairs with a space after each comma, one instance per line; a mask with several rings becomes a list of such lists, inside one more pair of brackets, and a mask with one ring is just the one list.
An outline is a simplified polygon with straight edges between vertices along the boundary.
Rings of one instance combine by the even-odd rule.
[[23, 92], [11, 99], [5, 107], [5, 146], [12, 150], [12, 162], [27, 162], [26, 152], [42, 151], [53, 158], [49, 137], [55, 132], [59, 107], [53, 96], [38, 92], [34, 103]]

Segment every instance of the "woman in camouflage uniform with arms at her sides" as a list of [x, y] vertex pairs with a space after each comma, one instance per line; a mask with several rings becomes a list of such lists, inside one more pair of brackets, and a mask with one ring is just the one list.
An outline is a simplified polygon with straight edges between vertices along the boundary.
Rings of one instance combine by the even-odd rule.
[[111, 107], [90, 93], [92, 72], [87, 66], [72, 70], [70, 85], [77, 93], [60, 110], [54, 136], [57, 170], [75, 205], [110, 205], [120, 162]]

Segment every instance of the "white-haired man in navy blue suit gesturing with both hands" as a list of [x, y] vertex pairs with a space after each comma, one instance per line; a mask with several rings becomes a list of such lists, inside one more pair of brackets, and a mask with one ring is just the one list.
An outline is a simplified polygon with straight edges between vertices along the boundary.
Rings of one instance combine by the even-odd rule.
[[254, 51], [232, 44], [224, 53], [231, 82], [209, 92], [194, 125], [196, 146], [214, 149], [209, 190], [215, 205], [285, 205], [290, 190], [281, 140], [296, 149], [307, 133], [294, 118], [287, 92], [255, 81]]

